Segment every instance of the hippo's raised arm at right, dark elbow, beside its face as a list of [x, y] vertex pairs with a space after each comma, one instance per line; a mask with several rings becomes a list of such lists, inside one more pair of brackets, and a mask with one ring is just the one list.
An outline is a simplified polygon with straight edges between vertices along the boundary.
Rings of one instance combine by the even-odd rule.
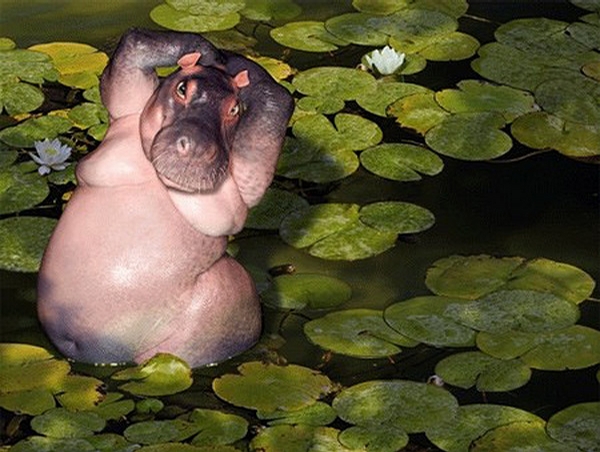
[[230, 75], [248, 71], [250, 79], [239, 93], [243, 111], [232, 146], [231, 173], [244, 203], [253, 207], [273, 179], [294, 102], [261, 66], [240, 55], [225, 55]]

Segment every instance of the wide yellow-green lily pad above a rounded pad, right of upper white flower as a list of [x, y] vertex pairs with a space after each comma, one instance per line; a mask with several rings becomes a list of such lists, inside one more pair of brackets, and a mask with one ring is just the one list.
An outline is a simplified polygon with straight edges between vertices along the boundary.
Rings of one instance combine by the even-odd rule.
[[463, 80], [458, 90], [447, 89], [435, 95], [436, 101], [452, 113], [497, 112], [506, 122], [536, 109], [535, 100], [526, 91], [497, 86], [477, 80]]

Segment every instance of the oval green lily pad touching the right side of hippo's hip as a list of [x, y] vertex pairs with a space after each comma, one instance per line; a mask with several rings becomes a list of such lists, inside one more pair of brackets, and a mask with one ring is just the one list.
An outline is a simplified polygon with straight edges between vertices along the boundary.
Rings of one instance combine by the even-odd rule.
[[295, 273], [274, 278], [261, 294], [263, 302], [277, 309], [327, 309], [345, 303], [352, 289], [344, 281], [327, 275]]

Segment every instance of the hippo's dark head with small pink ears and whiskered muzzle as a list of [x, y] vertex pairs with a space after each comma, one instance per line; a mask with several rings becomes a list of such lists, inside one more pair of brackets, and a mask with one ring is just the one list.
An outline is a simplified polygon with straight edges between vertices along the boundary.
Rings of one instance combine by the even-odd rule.
[[194, 55], [160, 83], [140, 121], [144, 152], [160, 179], [190, 193], [215, 190], [226, 177], [243, 108], [238, 93], [249, 84], [247, 71], [231, 76], [196, 65]]

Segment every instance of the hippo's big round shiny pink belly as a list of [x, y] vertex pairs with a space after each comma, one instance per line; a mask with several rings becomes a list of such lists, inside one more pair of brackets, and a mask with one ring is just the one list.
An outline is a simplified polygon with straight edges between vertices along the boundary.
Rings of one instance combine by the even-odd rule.
[[158, 185], [79, 187], [44, 255], [40, 320], [67, 356], [131, 361], [172, 330], [225, 246], [186, 223]]

